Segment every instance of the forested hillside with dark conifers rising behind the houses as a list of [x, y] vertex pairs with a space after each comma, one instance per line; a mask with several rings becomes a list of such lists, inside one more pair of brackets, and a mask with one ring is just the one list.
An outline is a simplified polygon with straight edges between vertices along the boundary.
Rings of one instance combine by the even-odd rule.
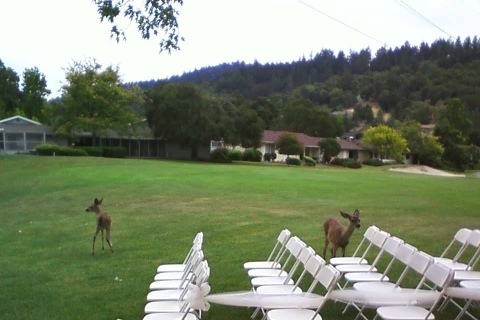
[[[291, 63], [223, 63], [164, 80], [138, 82], [149, 88], [157, 82], [201, 83], [216, 93], [247, 100], [267, 97], [276, 112], [293, 102], [330, 110], [353, 107], [361, 97], [379, 103], [390, 121], [405, 118], [434, 121], [435, 110], [451, 97], [465, 104], [480, 125], [480, 40], [477, 36], [455, 42], [438, 39], [419, 46], [369, 48], [334, 54], [329, 49]], [[275, 121], [268, 121], [275, 124]], [[280, 125], [281, 126], [281, 125]], [[278, 125], [276, 125], [278, 127]], [[347, 129], [347, 128], [346, 128]], [[302, 130], [305, 131], [305, 130]]]

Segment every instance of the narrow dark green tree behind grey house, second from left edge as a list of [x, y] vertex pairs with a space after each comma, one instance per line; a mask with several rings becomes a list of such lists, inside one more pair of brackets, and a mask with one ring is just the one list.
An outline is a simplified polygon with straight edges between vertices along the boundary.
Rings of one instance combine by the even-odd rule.
[[28, 118], [36, 117], [44, 122], [43, 107], [50, 90], [46, 88], [45, 75], [37, 67], [23, 72], [23, 111]]

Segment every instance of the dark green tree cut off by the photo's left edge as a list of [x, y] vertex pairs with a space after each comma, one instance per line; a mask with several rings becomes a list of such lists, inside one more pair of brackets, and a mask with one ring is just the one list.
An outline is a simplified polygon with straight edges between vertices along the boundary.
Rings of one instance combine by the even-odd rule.
[[6, 67], [0, 59], [0, 118], [13, 115], [20, 104], [18, 81], [18, 74], [12, 68]]

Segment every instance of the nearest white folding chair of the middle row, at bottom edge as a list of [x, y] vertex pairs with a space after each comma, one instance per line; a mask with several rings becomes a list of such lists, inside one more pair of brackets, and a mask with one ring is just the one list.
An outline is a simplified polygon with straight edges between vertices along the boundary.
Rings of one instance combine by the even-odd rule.
[[325, 289], [323, 301], [320, 303], [316, 310], [310, 309], [274, 309], [266, 312], [266, 318], [268, 320], [321, 320], [319, 312], [325, 302], [328, 300], [331, 290], [336, 286], [340, 272], [332, 265], [324, 265], [320, 271], [315, 275], [315, 284], [320, 283]]

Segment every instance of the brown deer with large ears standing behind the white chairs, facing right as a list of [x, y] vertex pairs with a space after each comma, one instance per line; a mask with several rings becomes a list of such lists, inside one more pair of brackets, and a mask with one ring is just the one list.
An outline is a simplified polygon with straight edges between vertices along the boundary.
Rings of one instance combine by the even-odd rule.
[[360, 212], [355, 209], [352, 215], [340, 211], [340, 214], [345, 219], [348, 219], [348, 226], [345, 228], [338, 222], [337, 219], [329, 218], [323, 223], [323, 230], [325, 231], [325, 244], [323, 246], [323, 258], [325, 259], [326, 248], [328, 243], [331, 243], [330, 257], [336, 256], [336, 249], [341, 248], [341, 255], [345, 256], [345, 247], [348, 245], [353, 230], [360, 227]]

